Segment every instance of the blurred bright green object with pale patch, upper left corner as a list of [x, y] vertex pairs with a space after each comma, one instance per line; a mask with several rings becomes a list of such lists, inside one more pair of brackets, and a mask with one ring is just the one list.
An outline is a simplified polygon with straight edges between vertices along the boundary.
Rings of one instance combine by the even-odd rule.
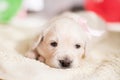
[[0, 23], [8, 23], [22, 5], [22, 0], [0, 0]]

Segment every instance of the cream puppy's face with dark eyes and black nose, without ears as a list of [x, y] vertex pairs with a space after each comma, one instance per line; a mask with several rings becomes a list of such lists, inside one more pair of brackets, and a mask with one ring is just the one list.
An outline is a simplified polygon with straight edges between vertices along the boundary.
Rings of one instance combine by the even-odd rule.
[[78, 67], [85, 56], [86, 33], [71, 19], [53, 21], [36, 47], [45, 63], [55, 68]]

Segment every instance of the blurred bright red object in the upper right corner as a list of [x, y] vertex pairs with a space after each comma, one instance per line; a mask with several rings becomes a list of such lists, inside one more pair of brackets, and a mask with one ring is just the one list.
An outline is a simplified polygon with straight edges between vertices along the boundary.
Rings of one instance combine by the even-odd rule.
[[85, 8], [108, 22], [120, 22], [120, 0], [86, 0]]

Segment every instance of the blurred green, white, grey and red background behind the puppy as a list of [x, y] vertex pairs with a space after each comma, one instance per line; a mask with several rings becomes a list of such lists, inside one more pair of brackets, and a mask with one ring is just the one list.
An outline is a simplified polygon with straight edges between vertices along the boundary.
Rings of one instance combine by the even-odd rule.
[[94, 12], [120, 31], [120, 0], [0, 0], [0, 25], [39, 27], [66, 11]]

